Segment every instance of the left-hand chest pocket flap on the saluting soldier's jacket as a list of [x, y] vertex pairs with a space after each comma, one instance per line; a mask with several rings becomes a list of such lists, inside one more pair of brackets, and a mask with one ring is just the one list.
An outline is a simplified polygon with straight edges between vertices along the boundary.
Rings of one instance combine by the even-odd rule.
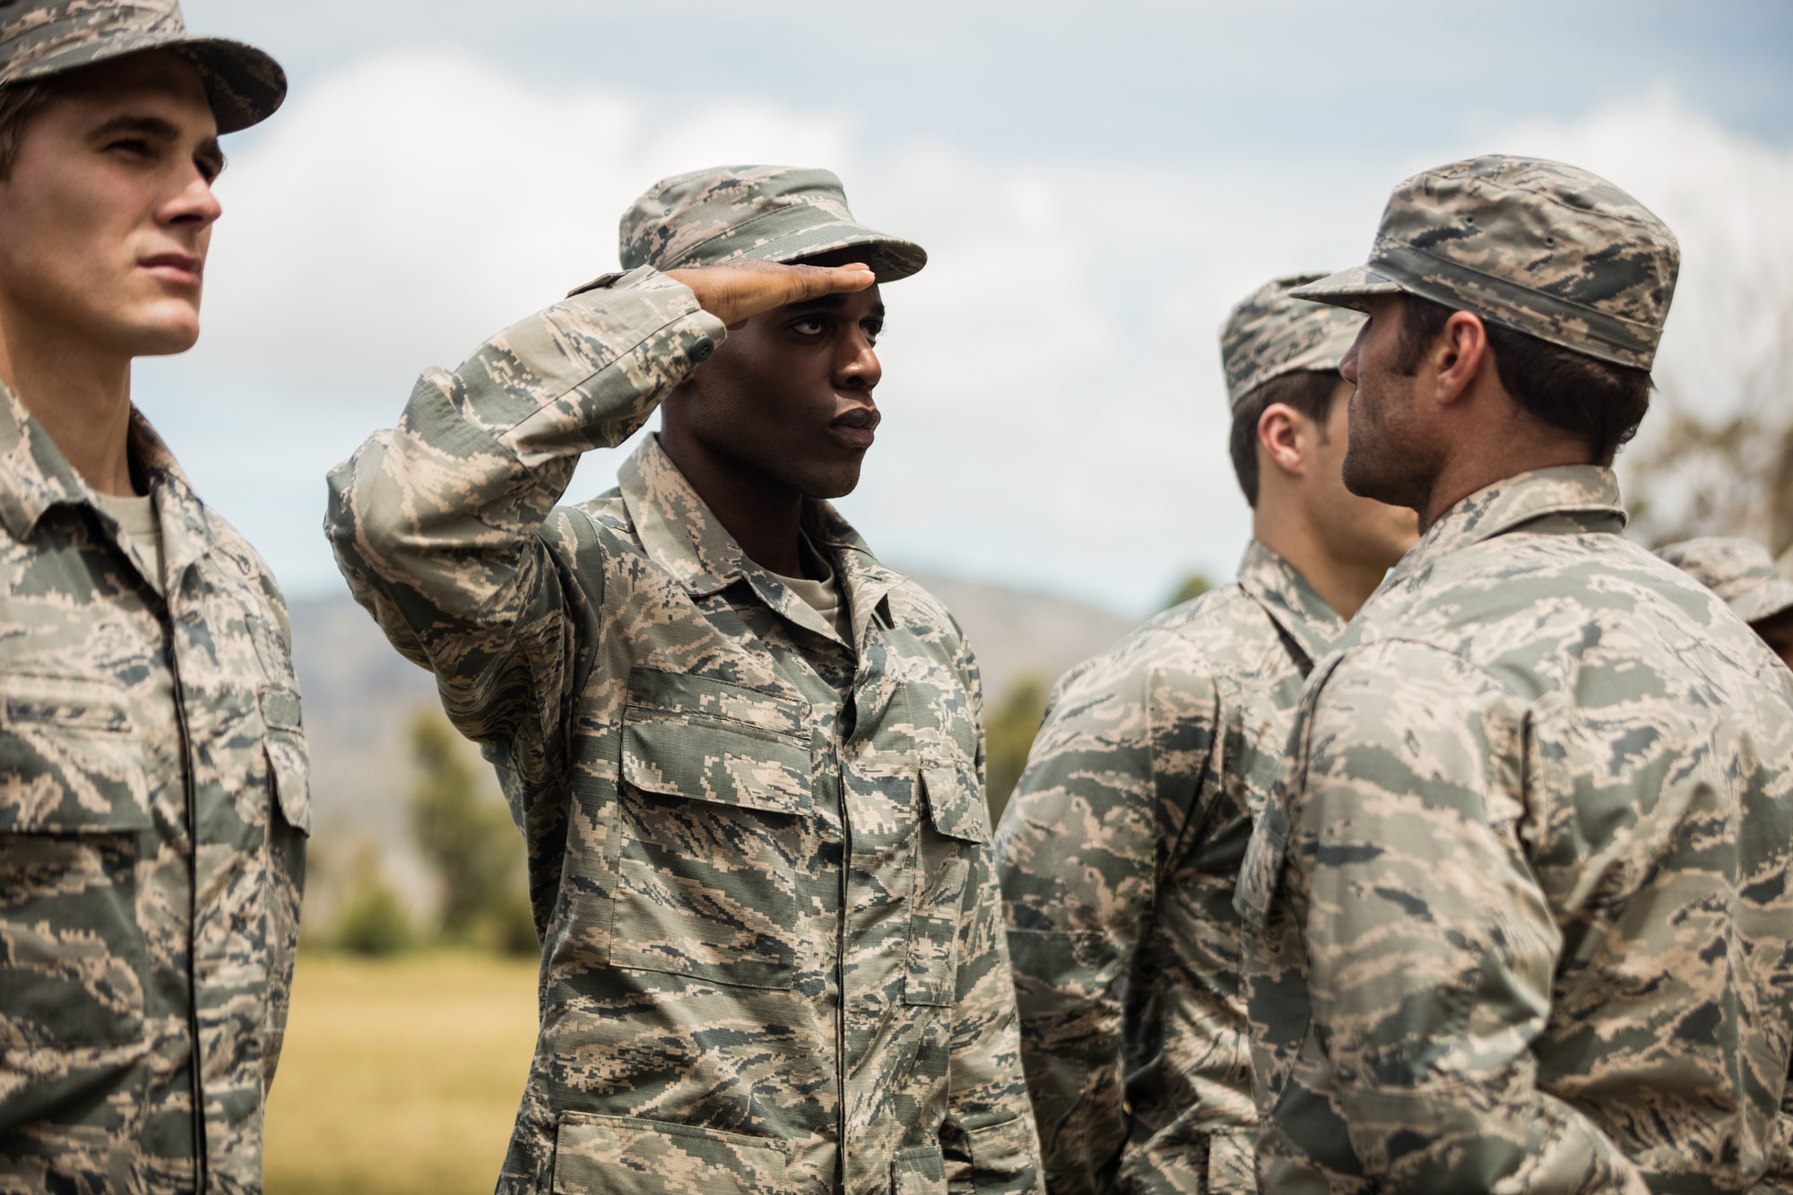
[[644, 793], [805, 813], [809, 745], [714, 720], [635, 718], [622, 727], [622, 779]]

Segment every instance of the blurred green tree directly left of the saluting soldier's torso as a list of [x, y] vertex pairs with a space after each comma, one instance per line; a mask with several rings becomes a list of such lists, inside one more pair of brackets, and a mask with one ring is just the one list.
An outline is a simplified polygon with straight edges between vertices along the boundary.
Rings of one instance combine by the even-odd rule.
[[411, 723], [411, 829], [441, 885], [443, 940], [533, 953], [522, 840], [509, 809], [479, 791], [461, 737], [436, 711]]

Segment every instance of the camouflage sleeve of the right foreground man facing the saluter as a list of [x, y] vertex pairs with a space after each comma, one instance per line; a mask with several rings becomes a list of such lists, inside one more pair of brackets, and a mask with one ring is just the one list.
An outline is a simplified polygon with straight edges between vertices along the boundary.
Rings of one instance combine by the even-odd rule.
[[1641, 1195], [1623, 1152], [1538, 1087], [1529, 1050], [1562, 935], [1524, 850], [1549, 816], [1528, 807], [1524, 757], [1551, 743], [1490, 676], [1400, 641], [1343, 659], [1304, 703], [1286, 883], [1364, 1173], [1384, 1191]]

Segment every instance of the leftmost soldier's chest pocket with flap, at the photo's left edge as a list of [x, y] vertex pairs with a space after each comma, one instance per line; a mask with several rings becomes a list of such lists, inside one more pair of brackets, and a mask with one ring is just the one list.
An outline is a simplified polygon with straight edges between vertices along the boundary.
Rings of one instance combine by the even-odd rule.
[[100, 685], [30, 680], [0, 684], [0, 1035], [27, 1050], [134, 1041], [142, 746]]

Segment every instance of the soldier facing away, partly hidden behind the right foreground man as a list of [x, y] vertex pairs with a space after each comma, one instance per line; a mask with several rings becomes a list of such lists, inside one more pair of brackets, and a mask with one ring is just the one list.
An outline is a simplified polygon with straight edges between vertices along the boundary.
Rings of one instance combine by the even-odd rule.
[[1234, 877], [1312, 662], [1416, 535], [1345, 490], [1357, 312], [1277, 278], [1221, 328], [1239, 583], [1079, 664], [997, 833], [1054, 1195], [1255, 1191]]

